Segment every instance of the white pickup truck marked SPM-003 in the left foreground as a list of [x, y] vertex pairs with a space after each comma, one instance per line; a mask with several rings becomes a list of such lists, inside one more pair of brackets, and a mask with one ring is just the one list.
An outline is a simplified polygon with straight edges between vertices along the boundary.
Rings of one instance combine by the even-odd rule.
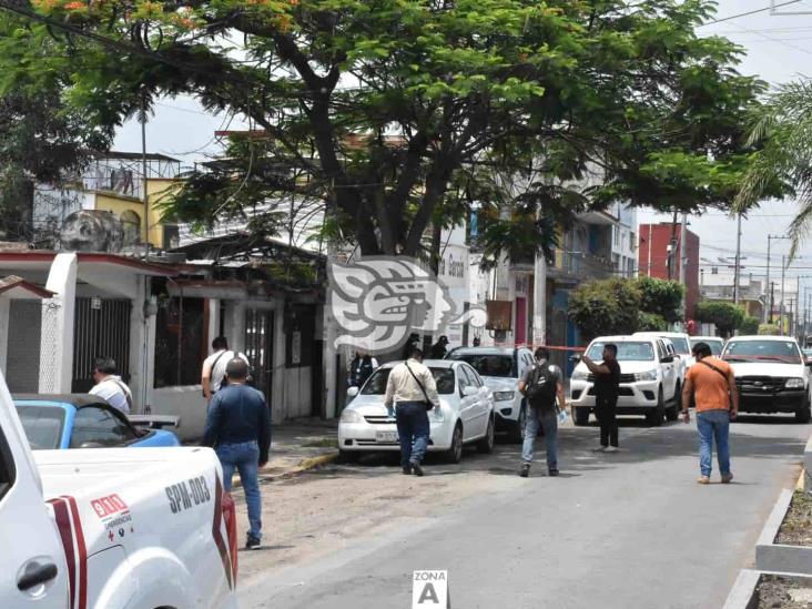
[[210, 448], [34, 455], [0, 377], [0, 607], [235, 608], [221, 480]]

